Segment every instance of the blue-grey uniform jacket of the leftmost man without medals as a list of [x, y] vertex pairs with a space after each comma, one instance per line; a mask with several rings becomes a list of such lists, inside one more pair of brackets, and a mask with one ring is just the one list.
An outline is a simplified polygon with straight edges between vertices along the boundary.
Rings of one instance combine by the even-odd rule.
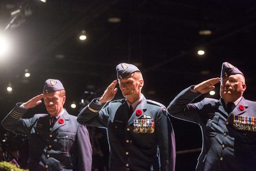
[[15, 134], [28, 135], [29, 170], [91, 170], [92, 148], [86, 126], [80, 125], [66, 110], [52, 128], [49, 114], [22, 119], [27, 109], [20, 108], [20, 104], [2, 125]]

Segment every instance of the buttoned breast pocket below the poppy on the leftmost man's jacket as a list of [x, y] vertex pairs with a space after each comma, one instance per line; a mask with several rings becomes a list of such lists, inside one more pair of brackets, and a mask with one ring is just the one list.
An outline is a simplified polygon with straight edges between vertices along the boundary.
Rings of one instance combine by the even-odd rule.
[[69, 154], [75, 141], [76, 133], [59, 131], [57, 135], [57, 151]]

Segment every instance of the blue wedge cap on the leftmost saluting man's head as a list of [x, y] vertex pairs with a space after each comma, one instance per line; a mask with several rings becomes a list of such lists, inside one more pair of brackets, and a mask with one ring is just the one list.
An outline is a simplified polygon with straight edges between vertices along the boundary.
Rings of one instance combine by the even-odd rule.
[[43, 93], [49, 94], [49, 93], [57, 92], [59, 90], [65, 90], [60, 80], [57, 80], [57, 79], [46, 80]]

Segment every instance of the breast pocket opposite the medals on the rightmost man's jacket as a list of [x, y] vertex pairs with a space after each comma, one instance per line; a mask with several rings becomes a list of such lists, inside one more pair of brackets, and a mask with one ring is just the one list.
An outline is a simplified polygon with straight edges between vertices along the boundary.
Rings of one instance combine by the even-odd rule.
[[220, 116], [215, 114], [207, 114], [206, 117], [206, 134], [209, 137], [214, 137], [217, 134]]

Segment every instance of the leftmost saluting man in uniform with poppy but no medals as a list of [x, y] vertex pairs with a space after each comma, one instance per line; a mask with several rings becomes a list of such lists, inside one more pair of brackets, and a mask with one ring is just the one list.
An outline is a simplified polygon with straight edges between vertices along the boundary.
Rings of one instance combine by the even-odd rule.
[[[29, 108], [44, 98], [48, 114], [24, 119]], [[66, 92], [56, 79], [45, 82], [43, 94], [25, 103], [17, 103], [2, 121], [5, 129], [29, 137], [29, 170], [91, 171], [92, 148], [86, 126], [63, 108]]]

